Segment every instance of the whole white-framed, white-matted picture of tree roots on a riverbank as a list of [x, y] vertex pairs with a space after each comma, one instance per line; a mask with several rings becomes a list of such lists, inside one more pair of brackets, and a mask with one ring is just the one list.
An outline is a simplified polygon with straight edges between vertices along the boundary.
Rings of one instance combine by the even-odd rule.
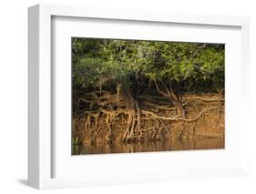
[[30, 186], [246, 175], [248, 18], [28, 14]]

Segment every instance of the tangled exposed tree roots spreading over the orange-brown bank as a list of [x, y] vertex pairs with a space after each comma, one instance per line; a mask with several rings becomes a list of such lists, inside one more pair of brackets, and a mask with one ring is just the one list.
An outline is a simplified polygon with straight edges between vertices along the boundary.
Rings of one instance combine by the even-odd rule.
[[91, 141], [101, 138], [108, 142], [122, 140], [126, 143], [171, 138], [173, 123], [179, 122], [182, 126], [195, 123], [204, 114], [215, 110], [219, 113], [220, 122], [220, 109], [223, 108], [220, 97], [184, 97], [181, 103], [188, 107], [185, 109], [189, 114], [180, 117], [178, 108], [164, 97], [141, 96], [135, 101], [105, 91], [101, 93], [87, 93], [86, 98], [79, 99], [85, 108], [73, 119], [75, 136]]

